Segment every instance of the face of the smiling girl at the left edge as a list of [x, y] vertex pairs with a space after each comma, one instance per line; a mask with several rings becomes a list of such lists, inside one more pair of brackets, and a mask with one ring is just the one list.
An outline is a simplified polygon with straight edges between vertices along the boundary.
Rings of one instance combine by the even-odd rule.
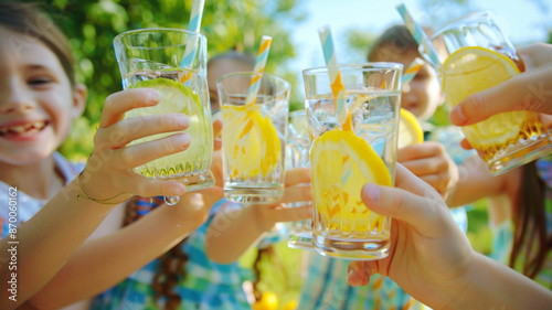
[[63, 142], [86, 90], [71, 87], [56, 55], [40, 41], [1, 26], [0, 41], [0, 161], [38, 162]]

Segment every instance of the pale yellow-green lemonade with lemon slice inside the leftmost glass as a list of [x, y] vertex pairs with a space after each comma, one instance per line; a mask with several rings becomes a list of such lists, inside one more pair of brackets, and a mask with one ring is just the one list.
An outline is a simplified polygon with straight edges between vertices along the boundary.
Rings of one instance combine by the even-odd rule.
[[[153, 107], [127, 111], [125, 118], [160, 114], [185, 114], [190, 118], [190, 127], [185, 130], [191, 138], [190, 147], [180, 153], [159, 158], [137, 167], [135, 171], [146, 177], [163, 179], [188, 178], [200, 174], [200, 179], [195, 182], [202, 183], [205, 181], [205, 177], [208, 179], [212, 178], [209, 169], [213, 152], [213, 128], [209, 109], [201, 104], [206, 101], [206, 94], [197, 94], [191, 87], [184, 86], [180, 82], [184, 73], [183, 70], [171, 68], [137, 71], [129, 74], [124, 81], [125, 85], [128, 87], [156, 88], [161, 94], [161, 101]], [[203, 96], [204, 100], [201, 100], [200, 96]], [[144, 137], [130, 145], [157, 140], [173, 133], [167, 132]]]

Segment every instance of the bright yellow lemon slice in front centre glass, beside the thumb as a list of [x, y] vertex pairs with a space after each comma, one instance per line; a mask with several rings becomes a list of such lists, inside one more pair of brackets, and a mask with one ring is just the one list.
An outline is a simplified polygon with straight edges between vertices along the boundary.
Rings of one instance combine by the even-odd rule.
[[383, 217], [360, 199], [365, 183], [391, 185], [383, 160], [352, 131], [333, 129], [315, 139], [310, 150], [314, 204], [328, 229], [342, 233], [382, 229]]

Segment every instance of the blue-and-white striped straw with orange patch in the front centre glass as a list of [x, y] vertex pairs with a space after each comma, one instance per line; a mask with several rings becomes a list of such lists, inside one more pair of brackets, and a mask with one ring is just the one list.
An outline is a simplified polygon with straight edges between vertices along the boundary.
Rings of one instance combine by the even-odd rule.
[[326, 66], [328, 67], [328, 75], [330, 76], [331, 92], [336, 103], [338, 120], [339, 124], [343, 126], [349, 116], [349, 111], [347, 109], [344, 98], [344, 85], [341, 79], [341, 72], [337, 67], [338, 61], [336, 56], [336, 49], [333, 49], [335, 45], [330, 26], [323, 25], [319, 28], [318, 34], [320, 36], [320, 43], [322, 44], [323, 60], [326, 61]]

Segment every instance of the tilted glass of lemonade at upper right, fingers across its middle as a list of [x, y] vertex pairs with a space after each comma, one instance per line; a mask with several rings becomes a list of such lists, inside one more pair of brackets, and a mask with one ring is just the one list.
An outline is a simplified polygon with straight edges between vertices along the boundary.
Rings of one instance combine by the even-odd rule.
[[[492, 87], [524, 71], [516, 49], [500, 30], [490, 12], [467, 14], [431, 39], [440, 57], [442, 67], [428, 53], [423, 42], [420, 53], [435, 67], [449, 108], [467, 96]], [[466, 139], [489, 167], [491, 174], [500, 174], [552, 151], [550, 135], [540, 115], [524, 111], [495, 115], [489, 119], [461, 127]]]

